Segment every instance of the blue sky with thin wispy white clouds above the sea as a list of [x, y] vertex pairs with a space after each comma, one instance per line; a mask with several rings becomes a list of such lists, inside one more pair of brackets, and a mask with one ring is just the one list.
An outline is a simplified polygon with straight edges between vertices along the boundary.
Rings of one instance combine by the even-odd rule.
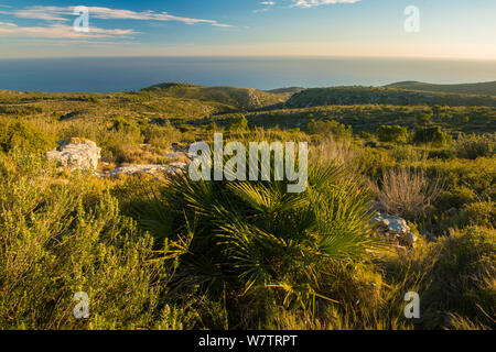
[[[88, 32], [74, 29], [78, 6]], [[90, 56], [496, 61], [496, 1], [0, 0], [0, 58]]]

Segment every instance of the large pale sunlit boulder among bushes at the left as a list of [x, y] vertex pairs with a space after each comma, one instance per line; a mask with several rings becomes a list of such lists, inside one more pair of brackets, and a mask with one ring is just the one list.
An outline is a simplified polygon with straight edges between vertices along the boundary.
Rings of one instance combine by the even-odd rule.
[[67, 139], [57, 142], [58, 147], [46, 153], [58, 166], [73, 169], [96, 170], [101, 157], [101, 148], [95, 142], [85, 139]]

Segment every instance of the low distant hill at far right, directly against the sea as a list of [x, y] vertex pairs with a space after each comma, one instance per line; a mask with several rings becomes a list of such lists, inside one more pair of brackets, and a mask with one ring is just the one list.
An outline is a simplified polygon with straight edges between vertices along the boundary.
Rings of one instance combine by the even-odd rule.
[[400, 81], [385, 86], [388, 88], [400, 88], [422, 91], [456, 92], [465, 95], [496, 96], [496, 81], [463, 85], [431, 85], [421, 81]]

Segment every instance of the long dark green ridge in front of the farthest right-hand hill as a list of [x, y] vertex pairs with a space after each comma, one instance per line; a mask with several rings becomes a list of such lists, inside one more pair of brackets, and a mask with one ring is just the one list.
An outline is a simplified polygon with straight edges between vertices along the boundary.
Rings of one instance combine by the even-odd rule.
[[293, 95], [287, 101], [285, 106], [288, 108], [310, 108], [330, 105], [351, 106], [369, 103], [393, 106], [446, 105], [451, 107], [495, 107], [496, 97], [356, 86], [306, 89]]

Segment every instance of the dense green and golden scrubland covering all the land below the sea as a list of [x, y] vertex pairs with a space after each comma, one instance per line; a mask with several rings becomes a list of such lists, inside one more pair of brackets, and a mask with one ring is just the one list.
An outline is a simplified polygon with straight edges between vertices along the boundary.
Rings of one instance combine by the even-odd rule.
[[[496, 98], [485, 94], [1, 91], [0, 328], [493, 329]], [[100, 172], [161, 164], [173, 143], [215, 132], [309, 142], [308, 191], [107, 178], [43, 156], [77, 136], [103, 148]], [[382, 237], [377, 210], [406, 219], [416, 245]], [[89, 319], [73, 317], [76, 292]], [[408, 292], [420, 319], [403, 315]]]

